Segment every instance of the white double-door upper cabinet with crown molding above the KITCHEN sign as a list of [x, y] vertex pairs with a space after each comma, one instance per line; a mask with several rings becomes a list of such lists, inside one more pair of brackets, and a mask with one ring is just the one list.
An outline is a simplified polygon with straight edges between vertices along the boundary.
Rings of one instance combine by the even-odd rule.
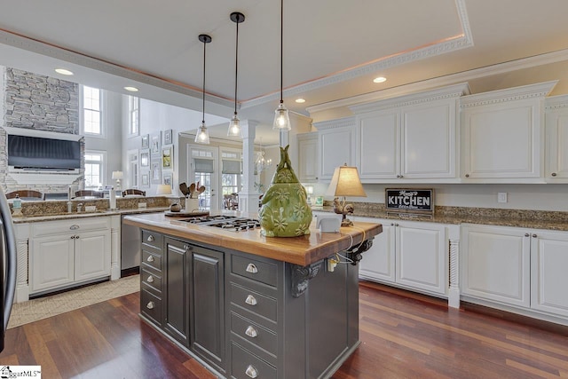
[[457, 181], [458, 99], [467, 83], [351, 107], [367, 183]]

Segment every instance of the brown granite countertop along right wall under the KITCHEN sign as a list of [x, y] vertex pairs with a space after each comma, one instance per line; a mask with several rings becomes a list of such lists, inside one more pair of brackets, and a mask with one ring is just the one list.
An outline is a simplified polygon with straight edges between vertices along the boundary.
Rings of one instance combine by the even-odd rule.
[[[334, 210], [331, 206], [325, 206], [322, 209], [314, 209], [314, 211], [333, 212]], [[568, 231], [568, 212], [561, 211], [437, 206], [434, 215], [431, 217], [429, 215], [416, 217], [407, 213], [387, 213], [384, 204], [357, 203], [352, 217], [421, 221], [448, 225], [498, 225]]]

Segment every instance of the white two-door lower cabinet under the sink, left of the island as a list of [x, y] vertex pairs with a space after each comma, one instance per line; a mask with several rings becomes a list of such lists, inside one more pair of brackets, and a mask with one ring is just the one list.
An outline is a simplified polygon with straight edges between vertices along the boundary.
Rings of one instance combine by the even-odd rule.
[[30, 293], [110, 275], [110, 217], [38, 222], [30, 235]]

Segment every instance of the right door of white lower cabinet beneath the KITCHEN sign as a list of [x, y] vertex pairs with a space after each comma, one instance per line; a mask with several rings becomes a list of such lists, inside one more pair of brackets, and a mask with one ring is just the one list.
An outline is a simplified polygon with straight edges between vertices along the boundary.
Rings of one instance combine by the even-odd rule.
[[397, 282], [445, 294], [445, 228], [400, 225], [395, 234]]

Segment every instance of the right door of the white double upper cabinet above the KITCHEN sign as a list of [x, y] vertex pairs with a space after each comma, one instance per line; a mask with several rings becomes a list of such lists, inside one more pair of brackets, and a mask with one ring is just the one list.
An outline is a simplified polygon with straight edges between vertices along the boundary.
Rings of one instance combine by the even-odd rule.
[[449, 104], [406, 108], [402, 116], [404, 178], [455, 177], [455, 111]]

